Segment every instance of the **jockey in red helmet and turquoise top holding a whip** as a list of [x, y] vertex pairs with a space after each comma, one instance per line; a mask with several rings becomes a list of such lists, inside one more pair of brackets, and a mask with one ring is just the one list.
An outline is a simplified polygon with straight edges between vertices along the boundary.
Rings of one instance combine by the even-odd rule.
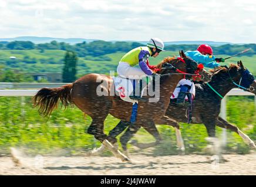
[[[194, 61], [197, 61], [197, 63], [201, 63], [204, 67], [208, 68], [218, 67], [220, 66], [220, 62], [224, 63], [225, 61], [224, 58], [215, 58], [213, 56], [213, 49], [207, 44], [201, 44], [196, 51], [187, 51], [185, 54], [187, 57], [192, 58]], [[194, 88], [194, 83], [188, 79], [181, 79], [180, 82], [178, 82], [178, 88], [180, 88], [180, 92], [178, 93], [176, 103], [183, 105], [186, 92], [190, 92], [190, 89]]]

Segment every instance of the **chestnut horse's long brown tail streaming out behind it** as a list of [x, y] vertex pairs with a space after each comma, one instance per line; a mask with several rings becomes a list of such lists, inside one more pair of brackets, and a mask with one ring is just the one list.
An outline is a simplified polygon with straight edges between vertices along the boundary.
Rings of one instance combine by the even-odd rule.
[[71, 90], [73, 84], [63, 85], [59, 88], [42, 88], [33, 96], [33, 105], [39, 106], [39, 113], [49, 116], [57, 108], [59, 102], [66, 107], [71, 103]]

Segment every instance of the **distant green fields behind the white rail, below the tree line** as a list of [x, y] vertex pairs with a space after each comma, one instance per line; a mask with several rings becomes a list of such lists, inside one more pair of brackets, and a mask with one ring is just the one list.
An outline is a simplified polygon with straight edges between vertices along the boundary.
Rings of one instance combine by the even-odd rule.
[[[12, 68], [12, 70], [19, 70], [23, 72], [62, 72], [63, 58], [65, 51], [63, 50], [44, 50], [41, 53], [40, 50], [0, 50], [0, 65], [4, 65], [5, 68]], [[100, 74], [108, 74], [110, 70], [116, 70], [118, 62], [124, 53], [112, 53], [106, 54], [100, 57], [79, 57], [78, 61], [78, 78], [82, 75], [92, 72]], [[156, 65], [167, 56], [177, 56], [178, 51], [164, 51], [157, 58], [150, 58], [150, 64]], [[15, 56], [16, 60], [10, 60], [9, 57]], [[218, 57], [228, 57], [225, 55], [219, 55]], [[26, 59], [28, 58], [28, 59]], [[104, 60], [107, 59], [107, 60]], [[26, 60], [28, 62], [26, 62]], [[256, 55], [248, 57], [234, 57], [225, 62], [236, 63], [238, 60], [242, 60], [245, 67], [247, 67], [252, 74], [256, 74]], [[224, 65], [223, 64], [223, 65]]]

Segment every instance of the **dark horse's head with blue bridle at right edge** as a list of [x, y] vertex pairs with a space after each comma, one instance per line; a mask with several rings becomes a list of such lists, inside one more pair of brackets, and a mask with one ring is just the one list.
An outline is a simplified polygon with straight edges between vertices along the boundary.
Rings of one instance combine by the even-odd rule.
[[244, 67], [241, 60], [237, 62], [236, 66], [233, 65], [233, 68], [229, 68], [228, 72], [235, 85], [256, 95], [255, 78], [251, 72]]

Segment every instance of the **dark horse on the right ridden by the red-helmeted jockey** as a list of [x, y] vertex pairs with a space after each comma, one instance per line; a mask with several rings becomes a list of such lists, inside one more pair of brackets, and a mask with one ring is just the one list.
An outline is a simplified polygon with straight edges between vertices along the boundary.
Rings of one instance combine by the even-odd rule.
[[[245, 73], [248, 69], [244, 67], [242, 61], [238, 61], [237, 65], [230, 64], [230, 67], [218, 67], [215, 70], [210, 71], [213, 73], [213, 78], [208, 84], [213, 86], [215, 91], [221, 96], [224, 97], [231, 89], [238, 87], [237, 85], [240, 84], [239, 82], [241, 79], [247, 80], [248, 82], [247, 85], [243, 85], [243, 82], [240, 84], [245, 88], [245, 91], [256, 95], [256, 81], [251, 74]], [[207, 84], [196, 84], [192, 124], [203, 123], [204, 126], [206, 126], [209, 137], [215, 137], [215, 126], [229, 129], [237, 133], [248, 146], [255, 149], [255, 143], [250, 137], [238, 129], [237, 126], [227, 122], [219, 116], [221, 96], [217, 95], [217, 93], [215, 93]], [[184, 151], [185, 147], [178, 122], [187, 122], [186, 108], [176, 106], [173, 102], [170, 102], [169, 108], [166, 110], [166, 115], [157, 120], [156, 123], [173, 126], [176, 130], [177, 146], [181, 151]]]

